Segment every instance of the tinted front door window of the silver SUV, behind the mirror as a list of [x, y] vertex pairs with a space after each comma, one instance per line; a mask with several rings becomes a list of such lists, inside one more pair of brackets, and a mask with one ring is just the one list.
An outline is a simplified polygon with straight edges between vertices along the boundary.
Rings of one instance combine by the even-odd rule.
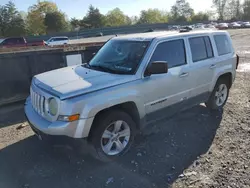
[[169, 68], [186, 64], [184, 40], [179, 39], [160, 43], [150, 60], [150, 62], [154, 61], [167, 61]]

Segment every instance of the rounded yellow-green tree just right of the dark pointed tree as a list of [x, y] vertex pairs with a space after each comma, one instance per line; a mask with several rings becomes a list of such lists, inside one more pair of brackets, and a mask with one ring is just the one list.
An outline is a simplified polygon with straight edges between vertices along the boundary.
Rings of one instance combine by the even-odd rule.
[[131, 20], [119, 8], [115, 8], [107, 13], [105, 16], [106, 26], [121, 26], [130, 25]]

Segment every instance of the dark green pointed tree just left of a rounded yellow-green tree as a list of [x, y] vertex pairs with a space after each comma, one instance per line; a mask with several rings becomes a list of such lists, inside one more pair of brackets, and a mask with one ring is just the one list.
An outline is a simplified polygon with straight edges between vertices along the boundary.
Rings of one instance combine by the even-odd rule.
[[83, 22], [90, 28], [100, 28], [104, 26], [105, 17], [102, 15], [98, 8], [89, 6], [87, 15], [83, 18]]

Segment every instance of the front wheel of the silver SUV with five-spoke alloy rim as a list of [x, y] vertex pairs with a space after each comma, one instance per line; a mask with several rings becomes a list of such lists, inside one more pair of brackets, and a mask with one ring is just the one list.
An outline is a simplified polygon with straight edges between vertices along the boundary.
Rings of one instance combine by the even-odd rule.
[[[127, 153], [136, 134], [135, 122], [127, 113], [120, 110], [101, 114], [93, 126], [89, 139], [92, 145], [91, 154], [103, 162], [113, 161]], [[122, 137], [119, 133], [129, 136]]]

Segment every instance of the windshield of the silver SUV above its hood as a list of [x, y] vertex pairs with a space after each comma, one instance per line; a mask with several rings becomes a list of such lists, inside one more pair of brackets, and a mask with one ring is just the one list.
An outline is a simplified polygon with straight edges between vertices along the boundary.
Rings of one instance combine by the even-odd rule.
[[117, 74], [135, 74], [149, 41], [108, 41], [90, 61], [89, 67]]

